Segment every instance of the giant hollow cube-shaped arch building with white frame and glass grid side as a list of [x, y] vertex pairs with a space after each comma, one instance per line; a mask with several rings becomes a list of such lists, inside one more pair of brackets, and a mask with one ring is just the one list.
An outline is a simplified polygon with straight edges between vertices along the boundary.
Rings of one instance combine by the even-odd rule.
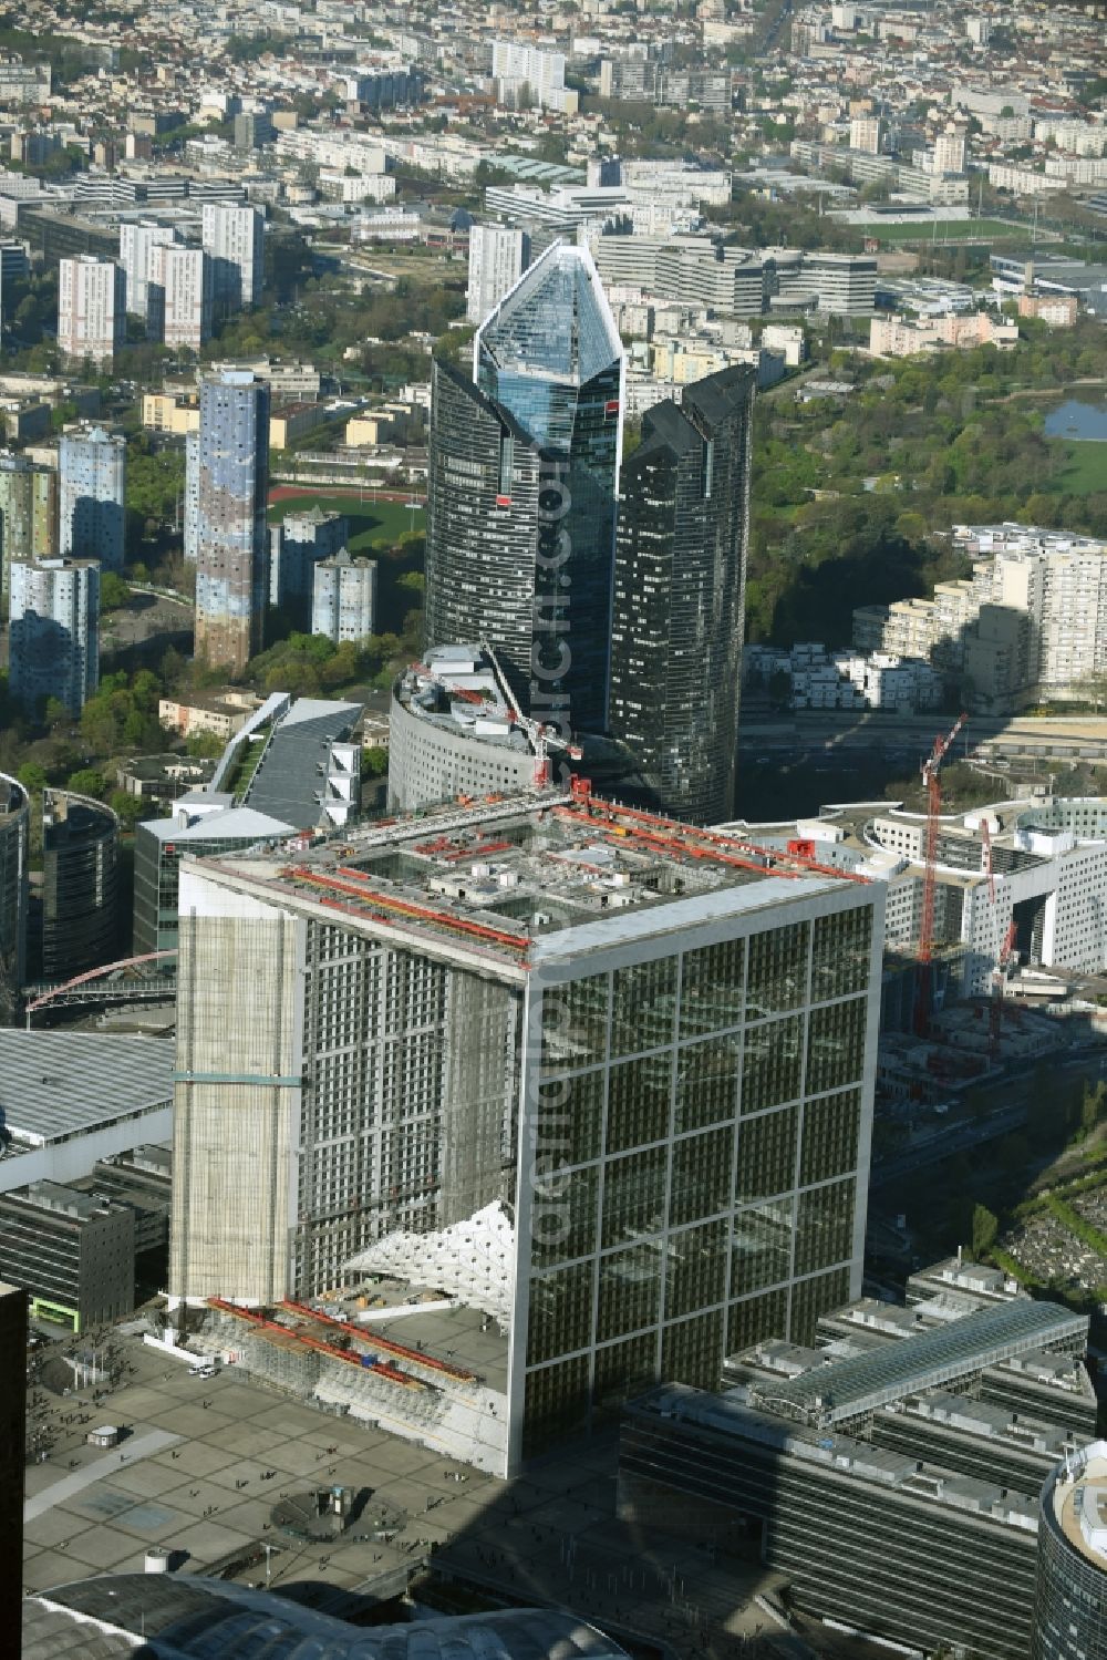
[[505, 1330], [506, 1471], [858, 1293], [880, 883], [578, 780], [179, 895], [174, 1301], [403, 1235], [375, 1272]]

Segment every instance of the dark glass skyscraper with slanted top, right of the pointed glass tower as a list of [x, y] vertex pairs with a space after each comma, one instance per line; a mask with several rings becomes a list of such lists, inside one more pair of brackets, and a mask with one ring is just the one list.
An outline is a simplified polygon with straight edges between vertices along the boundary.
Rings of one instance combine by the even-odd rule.
[[609, 729], [664, 812], [734, 812], [755, 372], [724, 369], [649, 410], [622, 470]]

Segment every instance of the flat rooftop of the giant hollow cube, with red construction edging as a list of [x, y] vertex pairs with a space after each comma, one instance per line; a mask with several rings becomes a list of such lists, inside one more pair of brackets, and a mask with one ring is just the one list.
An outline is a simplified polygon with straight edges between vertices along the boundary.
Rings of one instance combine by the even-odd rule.
[[[581, 946], [609, 941], [614, 913], [627, 935], [646, 935], [662, 925], [646, 913], [677, 900], [685, 925], [780, 903], [793, 885], [818, 891], [858, 880], [785, 848], [601, 802], [586, 780], [569, 792], [463, 798], [349, 842], [330, 838], [295, 862], [241, 855], [204, 868], [267, 898], [327, 906], [368, 930], [415, 931], [423, 945], [428, 936], [468, 945], [519, 968], [551, 954], [541, 941], [568, 930]], [[737, 906], [735, 890], [744, 890]], [[601, 920], [602, 941], [579, 933]]]

